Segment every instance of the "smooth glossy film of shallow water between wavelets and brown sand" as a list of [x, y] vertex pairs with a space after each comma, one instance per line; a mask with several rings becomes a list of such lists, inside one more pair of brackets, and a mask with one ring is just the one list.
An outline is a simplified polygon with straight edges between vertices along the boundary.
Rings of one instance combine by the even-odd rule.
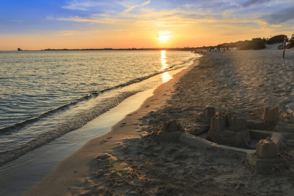
[[66, 156], [78, 150], [88, 140], [107, 133], [125, 115], [138, 109], [147, 97], [152, 96], [152, 92], [153, 89], [149, 89], [126, 98], [117, 107], [84, 126], [0, 166], [0, 196], [24, 195]]

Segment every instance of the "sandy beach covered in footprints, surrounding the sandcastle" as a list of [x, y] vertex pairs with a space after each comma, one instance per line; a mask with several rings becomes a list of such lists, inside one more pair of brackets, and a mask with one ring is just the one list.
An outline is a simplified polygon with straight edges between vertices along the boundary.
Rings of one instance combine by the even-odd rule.
[[[27, 195], [291, 196], [294, 58], [282, 60], [279, 55], [277, 51], [209, 52], [196, 59], [108, 134], [65, 159]], [[209, 124], [197, 120], [206, 105], [247, 121], [260, 120], [265, 106], [278, 106], [283, 126], [276, 131], [288, 133], [280, 153], [290, 169], [260, 174], [248, 167], [244, 157], [156, 139], [162, 124], [172, 119], [187, 133], [207, 131]]]

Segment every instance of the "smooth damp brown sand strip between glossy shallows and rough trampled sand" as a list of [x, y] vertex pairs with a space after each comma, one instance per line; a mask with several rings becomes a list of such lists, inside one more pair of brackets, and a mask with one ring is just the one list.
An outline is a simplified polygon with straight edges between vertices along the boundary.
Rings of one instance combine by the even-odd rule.
[[[49, 176], [45, 177], [26, 195], [39, 195], [43, 190], [48, 191], [42, 195], [66, 195], [72, 189], [70, 187], [83, 184], [90, 172], [89, 168], [93, 168], [97, 156], [119, 147], [125, 139], [140, 137], [142, 133], [140, 126], [138, 126], [141, 124], [139, 119], [164, 104], [166, 97], [172, 93], [173, 84], [193, 66], [196, 66], [198, 59], [196, 58], [191, 66], [173, 75], [171, 80], [158, 86], [154, 90], [153, 96], [147, 98], [135, 112], [128, 114], [123, 120], [116, 123], [110, 132], [88, 141], [83, 147], [63, 160]], [[55, 187], [55, 189], [52, 190], [50, 187]]]

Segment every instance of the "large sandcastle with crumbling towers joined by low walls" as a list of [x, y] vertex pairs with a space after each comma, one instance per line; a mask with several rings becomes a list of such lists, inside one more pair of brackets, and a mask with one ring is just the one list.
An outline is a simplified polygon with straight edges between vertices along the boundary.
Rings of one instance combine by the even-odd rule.
[[[163, 123], [157, 134], [157, 139], [177, 141], [189, 146], [207, 149], [214, 148], [227, 151], [228, 154], [245, 158], [248, 166], [255, 172], [272, 173], [288, 169], [289, 164], [278, 153], [285, 140], [284, 133], [267, 130], [252, 130], [247, 121], [229, 112], [215, 114], [215, 108], [206, 106], [199, 115], [204, 122], [210, 121], [206, 139], [186, 133], [184, 127], [176, 120]], [[208, 120], [208, 118], [211, 120]], [[277, 107], [266, 107], [263, 115], [263, 124], [276, 123], [279, 120]], [[259, 141], [254, 147], [249, 147], [250, 140]], [[248, 149], [249, 148], [249, 149]]]

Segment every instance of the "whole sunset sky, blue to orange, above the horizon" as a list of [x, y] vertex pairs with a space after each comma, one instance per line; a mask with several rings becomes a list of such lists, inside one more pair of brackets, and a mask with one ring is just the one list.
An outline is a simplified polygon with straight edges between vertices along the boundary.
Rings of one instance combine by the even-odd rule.
[[294, 33], [294, 0], [1, 0], [0, 50], [202, 47]]

